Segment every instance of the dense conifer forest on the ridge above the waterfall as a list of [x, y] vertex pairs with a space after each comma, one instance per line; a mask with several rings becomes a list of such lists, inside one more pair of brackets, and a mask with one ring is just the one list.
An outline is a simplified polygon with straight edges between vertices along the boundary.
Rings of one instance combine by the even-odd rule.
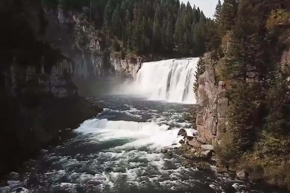
[[[136, 54], [202, 56], [215, 23], [179, 0], [44, 0], [46, 9], [83, 12], [96, 30]], [[83, 9], [86, 7], [86, 9]], [[217, 44], [217, 43], [215, 43]], [[208, 46], [207, 46], [208, 45]], [[117, 45], [116, 45], [117, 46]], [[117, 46], [119, 47], [119, 46]]]

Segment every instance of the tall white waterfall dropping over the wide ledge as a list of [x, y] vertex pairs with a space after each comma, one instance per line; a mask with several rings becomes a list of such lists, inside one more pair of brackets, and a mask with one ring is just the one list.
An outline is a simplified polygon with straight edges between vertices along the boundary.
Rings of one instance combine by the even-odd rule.
[[134, 92], [149, 100], [196, 103], [194, 72], [199, 58], [169, 59], [143, 63], [133, 83]]

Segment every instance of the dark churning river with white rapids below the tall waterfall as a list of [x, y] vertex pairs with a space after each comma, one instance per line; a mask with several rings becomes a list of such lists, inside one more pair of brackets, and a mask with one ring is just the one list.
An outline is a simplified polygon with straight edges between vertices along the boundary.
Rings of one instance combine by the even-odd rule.
[[183, 166], [178, 152], [160, 153], [180, 140], [178, 130], [195, 132], [183, 120], [191, 105], [132, 98], [126, 95], [89, 98], [107, 108], [75, 129], [76, 137], [42, 150], [18, 172], [1, 193], [222, 193], [275, 192], [274, 189]]

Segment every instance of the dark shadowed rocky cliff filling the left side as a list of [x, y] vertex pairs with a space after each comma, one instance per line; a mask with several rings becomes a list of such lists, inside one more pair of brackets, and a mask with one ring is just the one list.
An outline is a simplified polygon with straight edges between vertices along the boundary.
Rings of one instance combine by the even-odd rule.
[[45, 41], [40, 0], [1, 1], [0, 12], [1, 180], [102, 109], [78, 96], [73, 61]]

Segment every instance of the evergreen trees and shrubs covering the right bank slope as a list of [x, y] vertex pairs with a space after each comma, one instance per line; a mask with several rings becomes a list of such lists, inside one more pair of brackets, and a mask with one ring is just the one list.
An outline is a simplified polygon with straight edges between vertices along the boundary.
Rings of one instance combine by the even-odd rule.
[[216, 12], [219, 27], [208, 28], [209, 37], [220, 35], [207, 43], [214, 50], [218, 38], [228, 37], [219, 69], [229, 99], [226, 131], [217, 147], [220, 164], [288, 188], [290, 174], [283, 167], [290, 166], [290, 73], [280, 64], [285, 30], [273, 33], [273, 26], [289, 10], [284, 0], [225, 0]]

